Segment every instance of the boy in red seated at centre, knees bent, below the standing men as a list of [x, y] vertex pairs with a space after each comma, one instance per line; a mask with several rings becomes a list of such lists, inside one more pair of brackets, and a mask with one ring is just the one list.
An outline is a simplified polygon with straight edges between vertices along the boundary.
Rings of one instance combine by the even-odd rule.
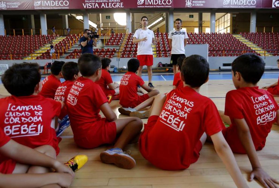
[[[140, 61], [138, 59], [132, 58], [128, 61], [128, 72], [120, 80], [120, 94], [119, 94], [119, 104], [122, 105], [118, 111], [124, 115], [130, 115], [131, 112], [139, 111], [145, 107], [151, 106], [154, 100], [154, 96], [158, 95], [160, 92], [158, 90], [153, 90], [148, 87], [143, 79], [136, 75], [137, 70], [140, 67]], [[138, 86], [141, 86], [148, 93], [143, 94], [138, 92]], [[140, 118], [148, 117], [149, 111], [139, 111], [135, 113], [135, 116]], [[133, 116], [133, 114], [131, 115]]]

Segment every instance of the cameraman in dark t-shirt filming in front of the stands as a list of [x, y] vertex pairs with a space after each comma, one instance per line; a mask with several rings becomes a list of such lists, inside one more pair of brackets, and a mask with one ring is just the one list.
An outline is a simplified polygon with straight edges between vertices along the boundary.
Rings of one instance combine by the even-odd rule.
[[89, 29], [85, 29], [83, 31], [84, 36], [80, 37], [80, 45], [81, 45], [81, 54], [83, 53], [92, 53], [93, 54], [93, 46], [97, 46], [96, 39], [90, 38], [88, 35], [91, 34]]

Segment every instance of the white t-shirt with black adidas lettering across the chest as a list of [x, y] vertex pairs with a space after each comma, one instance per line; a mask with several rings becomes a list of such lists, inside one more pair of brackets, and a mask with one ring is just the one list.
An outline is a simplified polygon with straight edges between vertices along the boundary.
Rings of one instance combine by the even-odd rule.
[[185, 54], [184, 39], [187, 38], [188, 35], [185, 30], [169, 32], [169, 39], [172, 39], [172, 54]]

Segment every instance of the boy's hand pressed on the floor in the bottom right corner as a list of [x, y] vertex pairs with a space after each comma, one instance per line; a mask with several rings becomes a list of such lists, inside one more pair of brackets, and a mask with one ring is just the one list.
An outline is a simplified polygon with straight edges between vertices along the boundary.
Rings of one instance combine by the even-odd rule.
[[249, 181], [252, 181], [254, 178], [258, 179], [266, 188], [277, 188], [276, 184], [279, 184], [277, 180], [270, 177], [262, 168], [252, 170]]

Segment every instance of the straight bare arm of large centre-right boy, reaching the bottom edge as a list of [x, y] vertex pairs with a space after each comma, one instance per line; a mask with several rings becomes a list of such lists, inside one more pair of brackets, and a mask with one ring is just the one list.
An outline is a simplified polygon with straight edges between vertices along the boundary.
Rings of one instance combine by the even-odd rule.
[[248, 187], [234, 158], [234, 154], [226, 142], [222, 132], [210, 136], [218, 156], [222, 159], [238, 188]]

